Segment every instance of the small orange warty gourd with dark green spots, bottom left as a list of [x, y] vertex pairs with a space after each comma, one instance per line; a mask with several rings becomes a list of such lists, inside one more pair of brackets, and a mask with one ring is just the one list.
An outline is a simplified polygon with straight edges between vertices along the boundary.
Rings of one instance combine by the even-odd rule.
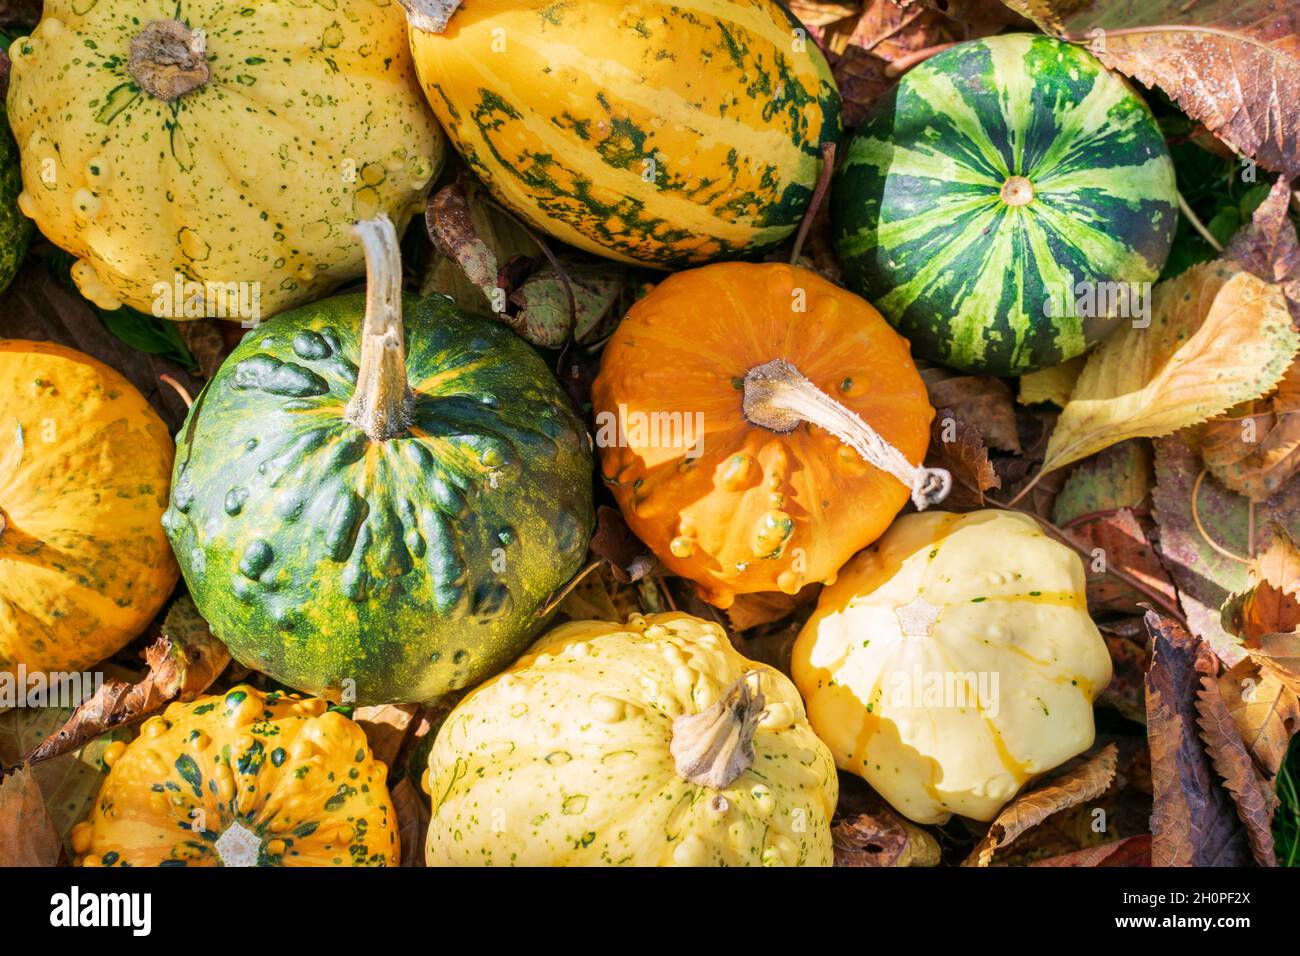
[[239, 685], [151, 717], [105, 750], [77, 865], [396, 865], [387, 767], [328, 706]]

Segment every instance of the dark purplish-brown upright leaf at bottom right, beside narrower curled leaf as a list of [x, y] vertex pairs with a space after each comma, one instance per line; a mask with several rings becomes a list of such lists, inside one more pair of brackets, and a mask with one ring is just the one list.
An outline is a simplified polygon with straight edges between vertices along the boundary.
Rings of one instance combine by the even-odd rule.
[[1200, 671], [1209, 646], [1170, 618], [1147, 611], [1154, 641], [1147, 671], [1152, 865], [1244, 866], [1253, 857], [1236, 804], [1219, 786], [1196, 726]]

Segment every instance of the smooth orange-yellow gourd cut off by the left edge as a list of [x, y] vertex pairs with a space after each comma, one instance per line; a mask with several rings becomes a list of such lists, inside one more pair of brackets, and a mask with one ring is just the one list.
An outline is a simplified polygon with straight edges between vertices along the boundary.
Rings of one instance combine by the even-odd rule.
[[77, 671], [176, 587], [162, 532], [176, 446], [108, 365], [0, 339], [0, 674]]

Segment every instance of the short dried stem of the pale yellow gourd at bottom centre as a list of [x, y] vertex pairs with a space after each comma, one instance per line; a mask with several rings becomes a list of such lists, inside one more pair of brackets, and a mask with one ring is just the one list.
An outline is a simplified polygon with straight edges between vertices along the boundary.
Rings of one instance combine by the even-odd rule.
[[672, 722], [668, 750], [677, 775], [722, 790], [754, 763], [754, 732], [767, 701], [759, 672], [748, 671], [707, 710]]

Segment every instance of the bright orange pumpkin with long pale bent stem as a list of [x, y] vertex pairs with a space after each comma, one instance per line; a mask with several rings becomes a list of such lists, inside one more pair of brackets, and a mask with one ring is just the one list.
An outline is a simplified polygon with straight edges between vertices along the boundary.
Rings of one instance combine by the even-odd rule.
[[606, 346], [593, 389], [604, 481], [628, 525], [701, 596], [835, 578], [907, 501], [941, 501], [910, 346], [807, 269], [720, 263], [670, 277]]

